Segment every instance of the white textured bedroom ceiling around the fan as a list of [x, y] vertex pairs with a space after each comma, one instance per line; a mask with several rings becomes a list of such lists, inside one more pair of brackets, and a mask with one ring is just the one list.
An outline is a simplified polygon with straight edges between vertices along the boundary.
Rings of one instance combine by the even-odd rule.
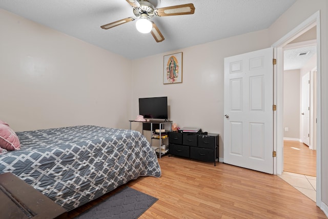
[[296, 0], [150, 0], [155, 8], [193, 3], [191, 15], [152, 18], [165, 41], [139, 33], [135, 21], [103, 30], [101, 25], [134, 17], [126, 0], [1, 0], [0, 8], [129, 59], [165, 53], [269, 28]]

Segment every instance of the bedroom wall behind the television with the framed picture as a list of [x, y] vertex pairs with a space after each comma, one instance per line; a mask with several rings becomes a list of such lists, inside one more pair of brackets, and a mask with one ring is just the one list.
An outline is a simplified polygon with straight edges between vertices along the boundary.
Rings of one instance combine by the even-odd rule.
[[[169, 119], [180, 128], [219, 133], [222, 158], [224, 57], [267, 47], [268, 30], [262, 30], [133, 61], [131, 117], [138, 115], [139, 97], [168, 96]], [[183, 52], [182, 83], [163, 85], [163, 56], [176, 52]]]

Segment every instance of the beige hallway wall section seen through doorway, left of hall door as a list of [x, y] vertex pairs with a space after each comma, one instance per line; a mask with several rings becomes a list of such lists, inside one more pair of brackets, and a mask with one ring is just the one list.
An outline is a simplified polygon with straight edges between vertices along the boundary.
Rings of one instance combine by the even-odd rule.
[[299, 69], [283, 72], [283, 137], [293, 140], [300, 140], [300, 84], [295, 83], [299, 81]]

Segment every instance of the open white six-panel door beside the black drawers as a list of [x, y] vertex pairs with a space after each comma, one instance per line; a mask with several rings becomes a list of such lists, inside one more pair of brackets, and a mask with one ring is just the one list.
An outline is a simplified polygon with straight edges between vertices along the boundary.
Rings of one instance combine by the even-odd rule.
[[273, 173], [273, 48], [224, 58], [224, 163]]

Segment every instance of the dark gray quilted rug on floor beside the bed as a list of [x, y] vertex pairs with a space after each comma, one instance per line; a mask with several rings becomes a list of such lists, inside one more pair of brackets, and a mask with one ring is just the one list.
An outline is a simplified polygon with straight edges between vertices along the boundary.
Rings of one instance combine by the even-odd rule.
[[139, 192], [130, 187], [118, 191], [107, 200], [83, 212], [74, 219], [90, 218], [138, 218], [158, 198]]

